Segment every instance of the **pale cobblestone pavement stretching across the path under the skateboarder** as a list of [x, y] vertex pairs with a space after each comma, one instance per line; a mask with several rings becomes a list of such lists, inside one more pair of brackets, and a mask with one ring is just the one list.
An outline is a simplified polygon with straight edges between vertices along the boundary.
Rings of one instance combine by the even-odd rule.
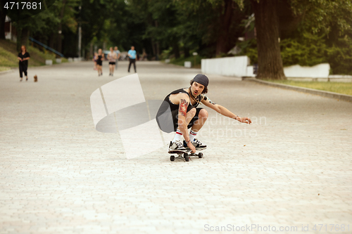
[[[200, 72], [137, 71], [147, 100]], [[203, 159], [170, 162], [165, 145], [127, 160], [118, 134], [94, 129], [89, 104], [127, 62], [103, 72], [82, 62], [30, 67], [28, 82], [0, 76], [0, 233], [352, 233], [352, 103], [208, 75], [211, 100], [253, 124], [207, 108]]]

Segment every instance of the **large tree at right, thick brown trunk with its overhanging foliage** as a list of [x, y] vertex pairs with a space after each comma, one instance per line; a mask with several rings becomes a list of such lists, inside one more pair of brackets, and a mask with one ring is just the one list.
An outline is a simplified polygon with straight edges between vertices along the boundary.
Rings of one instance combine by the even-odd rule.
[[[234, 0], [244, 7], [244, 0]], [[285, 79], [279, 49], [279, 37], [291, 37], [291, 32], [351, 35], [351, 0], [249, 0], [256, 17], [258, 46], [258, 78]], [[287, 7], [288, 6], [288, 7]], [[289, 18], [282, 17], [283, 10]], [[279, 13], [278, 13], [279, 12]], [[286, 32], [285, 32], [286, 30]], [[289, 33], [287, 33], [289, 32]], [[280, 35], [281, 34], [281, 35]], [[339, 41], [335, 39], [335, 41]], [[341, 40], [340, 40], [341, 41]], [[345, 41], [348, 41], [346, 39]]]

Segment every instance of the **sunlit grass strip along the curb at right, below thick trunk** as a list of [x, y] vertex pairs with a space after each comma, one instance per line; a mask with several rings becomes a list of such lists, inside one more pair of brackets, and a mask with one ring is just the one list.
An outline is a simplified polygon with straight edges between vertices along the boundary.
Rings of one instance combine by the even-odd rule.
[[268, 80], [268, 82], [352, 95], [352, 82], [296, 82], [292, 80]]

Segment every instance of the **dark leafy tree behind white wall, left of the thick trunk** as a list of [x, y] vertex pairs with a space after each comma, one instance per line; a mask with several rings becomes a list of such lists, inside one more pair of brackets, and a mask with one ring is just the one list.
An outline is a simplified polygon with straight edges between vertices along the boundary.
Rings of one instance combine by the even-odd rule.
[[[209, 51], [207, 56], [227, 53], [234, 47], [237, 38], [241, 37], [244, 30], [241, 20], [245, 18], [248, 8], [240, 8], [233, 0], [179, 0], [175, 4], [186, 16], [182, 25], [190, 22], [195, 26], [193, 31], [187, 33], [198, 34], [193, 35], [193, 38], [201, 41], [204, 51]], [[242, 7], [244, 3], [239, 4]]]

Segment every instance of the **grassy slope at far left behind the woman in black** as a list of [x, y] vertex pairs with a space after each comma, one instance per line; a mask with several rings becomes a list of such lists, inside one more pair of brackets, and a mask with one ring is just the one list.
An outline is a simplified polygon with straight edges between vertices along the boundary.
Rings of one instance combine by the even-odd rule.
[[[38, 48], [33, 46], [27, 47], [28, 53], [30, 53], [30, 60], [28, 65], [30, 67], [45, 65], [46, 59], [53, 60], [53, 64], [56, 63], [56, 55], [50, 51], [40, 51]], [[16, 50], [16, 44], [10, 40], [0, 40], [0, 65], [1, 67], [18, 67], [17, 59], [18, 51]], [[63, 58], [62, 63], [67, 63], [68, 60]]]

